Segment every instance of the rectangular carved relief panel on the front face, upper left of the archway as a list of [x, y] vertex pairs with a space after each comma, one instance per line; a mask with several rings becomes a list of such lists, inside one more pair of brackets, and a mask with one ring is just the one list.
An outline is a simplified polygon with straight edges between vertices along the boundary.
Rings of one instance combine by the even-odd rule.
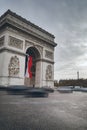
[[23, 49], [23, 41], [19, 40], [15, 37], [9, 36], [9, 46], [18, 48], [18, 49]]

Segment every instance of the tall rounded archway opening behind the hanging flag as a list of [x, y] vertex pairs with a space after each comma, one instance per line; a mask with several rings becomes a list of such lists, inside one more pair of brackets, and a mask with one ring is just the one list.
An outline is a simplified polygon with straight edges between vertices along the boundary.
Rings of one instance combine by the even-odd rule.
[[32, 57], [32, 67], [31, 67], [31, 73], [32, 73], [32, 78], [25, 77], [25, 85], [34, 87], [35, 86], [35, 79], [36, 79], [36, 62], [38, 59], [40, 59], [40, 53], [35, 47], [29, 47], [26, 50], [26, 57], [25, 57], [25, 72], [26, 72], [26, 67], [27, 67], [27, 61], [28, 61], [28, 56]]

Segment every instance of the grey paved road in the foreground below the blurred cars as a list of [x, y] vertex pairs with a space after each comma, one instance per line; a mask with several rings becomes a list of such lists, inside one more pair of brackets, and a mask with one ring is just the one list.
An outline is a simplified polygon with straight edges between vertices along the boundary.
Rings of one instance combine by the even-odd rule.
[[0, 130], [87, 130], [87, 93], [28, 98], [0, 91]]

